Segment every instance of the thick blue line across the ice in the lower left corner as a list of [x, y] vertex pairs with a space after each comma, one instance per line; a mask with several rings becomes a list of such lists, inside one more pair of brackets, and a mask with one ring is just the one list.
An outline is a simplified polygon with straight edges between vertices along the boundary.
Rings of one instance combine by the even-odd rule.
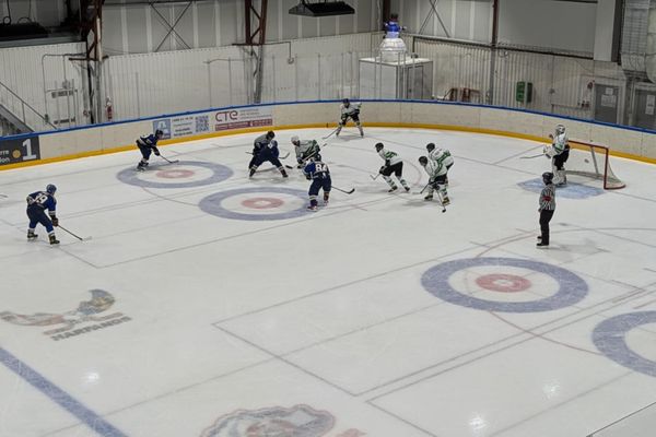
[[84, 406], [80, 401], [55, 386], [32, 367], [0, 347], [0, 363], [4, 364], [14, 374], [30, 382], [35, 389], [50, 398], [59, 406], [82, 421], [86, 426], [103, 437], [127, 437], [126, 434], [115, 428], [103, 417]]

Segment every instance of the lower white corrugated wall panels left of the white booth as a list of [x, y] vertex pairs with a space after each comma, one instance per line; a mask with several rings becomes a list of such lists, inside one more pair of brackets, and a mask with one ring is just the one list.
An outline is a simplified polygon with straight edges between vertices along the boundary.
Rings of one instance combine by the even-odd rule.
[[[262, 102], [337, 98], [358, 91], [358, 59], [379, 35], [294, 40], [263, 48]], [[290, 58], [291, 54], [291, 58]], [[112, 56], [104, 91], [115, 119], [129, 119], [250, 102], [255, 58], [244, 48]]]

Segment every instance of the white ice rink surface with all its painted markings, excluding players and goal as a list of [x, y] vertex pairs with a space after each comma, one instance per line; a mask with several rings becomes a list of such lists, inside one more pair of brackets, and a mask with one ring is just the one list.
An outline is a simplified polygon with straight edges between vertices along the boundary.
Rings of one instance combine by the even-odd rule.
[[[278, 131], [285, 163], [328, 133]], [[318, 212], [296, 169], [248, 179], [257, 133], [0, 172], [0, 436], [585, 437], [655, 401], [654, 165], [571, 177], [540, 250], [541, 144], [355, 133], [321, 152], [355, 192]], [[372, 180], [378, 141], [410, 193]], [[444, 214], [413, 193], [427, 142]], [[47, 184], [90, 240], [26, 240]]]

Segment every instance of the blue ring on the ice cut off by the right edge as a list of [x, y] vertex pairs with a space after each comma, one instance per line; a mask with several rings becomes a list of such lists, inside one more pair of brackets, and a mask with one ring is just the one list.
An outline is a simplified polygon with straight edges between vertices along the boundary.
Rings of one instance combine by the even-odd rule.
[[656, 362], [633, 352], [626, 333], [641, 324], [656, 323], [656, 311], [629, 312], [611, 317], [595, 327], [593, 343], [613, 362], [641, 374], [656, 377]]

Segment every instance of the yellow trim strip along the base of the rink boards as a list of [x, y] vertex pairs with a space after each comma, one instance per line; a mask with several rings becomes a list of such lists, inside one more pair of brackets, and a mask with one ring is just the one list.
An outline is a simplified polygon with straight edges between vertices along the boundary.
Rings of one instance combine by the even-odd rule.
[[[241, 133], [261, 132], [261, 131], [268, 130], [268, 129], [276, 129], [276, 130], [309, 129], [309, 128], [331, 129], [335, 127], [336, 127], [335, 123], [323, 123], [323, 122], [304, 123], [304, 125], [283, 125], [283, 126], [276, 126], [276, 127], [261, 126], [261, 127], [257, 127], [257, 128], [242, 128], [242, 129], [234, 129], [234, 130], [224, 130], [224, 131], [220, 131], [220, 132], [210, 132], [210, 133], [202, 133], [202, 134], [198, 134], [198, 135], [189, 135], [189, 137], [185, 137], [185, 138], [163, 140], [160, 142], [160, 145], [186, 143], [186, 142], [190, 142], [190, 141], [204, 140], [208, 138], [229, 137], [229, 135], [236, 135], [236, 134], [241, 134]], [[507, 131], [494, 130], [494, 129], [470, 128], [470, 127], [452, 126], [452, 125], [367, 122], [366, 127], [452, 130], [452, 131], [460, 131], [460, 132], [484, 133], [484, 134], [491, 134], [491, 135], [518, 138], [522, 140], [536, 141], [539, 143], [550, 143], [550, 140], [548, 140], [548, 139], [537, 137], [537, 135], [531, 135], [528, 133], [516, 133], [516, 132], [507, 132]], [[575, 142], [575, 141], [572, 141], [572, 142]], [[0, 170], [11, 169], [11, 168], [20, 168], [20, 167], [31, 167], [34, 165], [58, 163], [58, 162], [70, 161], [70, 160], [79, 160], [79, 158], [89, 157], [89, 156], [107, 155], [107, 154], [112, 154], [112, 153], [126, 152], [126, 151], [133, 150], [133, 149], [136, 149], [136, 145], [119, 145], [116, 147], [104, 149], [104, 150], [99, 150], [99, 151], [81, 152], [81, 153], [74, 153], [74, 154], [63, 155], [63, 156], [47, 157], [47, 158], [43, 158], [43, 160], [38, 160], [38, 161], [28, 161], [25, 163], [5, 164], [5, 165], [0, 166]], [[643, 162], [643, 163], [648, 163], [648, 164], [656, 164], [656, 158], [634, 155], [631, 153], [617, 152], [617, 151], [611, 150], [610, 155], [626, 158], [626, 160], [633, 160], [633, 161], [639, 161], [639, 162]]]

